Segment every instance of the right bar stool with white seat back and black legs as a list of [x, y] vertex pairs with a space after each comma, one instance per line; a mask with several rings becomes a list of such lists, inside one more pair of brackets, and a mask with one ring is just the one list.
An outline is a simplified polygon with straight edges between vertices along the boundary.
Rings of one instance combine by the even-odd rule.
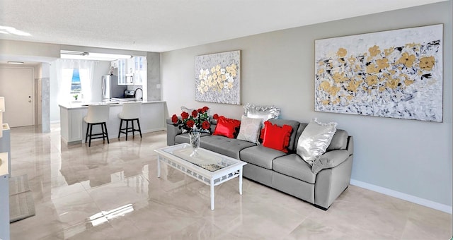
[[[142, 111], [142, 102], [125, 102], [122, 104], [122, 111], [118, 114], [118, 117], [121, 119], [120, 122], [120, 131], [118, 132], [118, 138], [120, 138], [121, 133], [126, 134], [132, 132], [132, 136], [135, 137], [134, 132], [140, 133], [140, 138], [142, 138], [142, 128], [140, 128], [140, 112]], [[122, 121], [126, 121], [126, 128], [122, 128]], [[137, 121], [138, 128], [134, 128], [134, 121]], [[129, 123], [131, 126], [129, 126]]]

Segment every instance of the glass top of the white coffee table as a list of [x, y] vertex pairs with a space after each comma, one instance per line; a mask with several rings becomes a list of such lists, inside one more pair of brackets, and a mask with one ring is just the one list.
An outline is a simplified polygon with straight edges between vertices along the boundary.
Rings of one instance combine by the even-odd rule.
[[193, 150], [189, 145], [180, 145], [177, 148], [164, 148], [162, 150], [210, 172], [215, 172], [239, 162], [203, 148], [198, 148], [196, 154], [193, 155]]

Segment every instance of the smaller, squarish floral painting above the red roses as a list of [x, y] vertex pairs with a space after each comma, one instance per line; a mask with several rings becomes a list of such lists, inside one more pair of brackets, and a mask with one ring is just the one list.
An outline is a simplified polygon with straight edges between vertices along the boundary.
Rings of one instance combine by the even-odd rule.
[[195, 100], [241, 104], [241, 51], [195, 56]]

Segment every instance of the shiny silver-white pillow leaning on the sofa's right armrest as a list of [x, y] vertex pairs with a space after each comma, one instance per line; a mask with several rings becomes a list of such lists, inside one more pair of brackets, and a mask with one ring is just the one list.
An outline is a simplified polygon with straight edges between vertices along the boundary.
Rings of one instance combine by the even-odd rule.
[[334, 122], [321, 124], [316, 118], [311, 119], [297, 140], [297, 154], [312, 166], [331, 144], [333, 134], [337, 131], [336, 126], [337, 123]]

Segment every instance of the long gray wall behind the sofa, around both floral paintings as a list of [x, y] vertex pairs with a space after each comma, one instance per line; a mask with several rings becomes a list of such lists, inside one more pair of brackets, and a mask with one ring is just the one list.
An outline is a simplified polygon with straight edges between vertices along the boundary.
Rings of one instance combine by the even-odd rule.
[[[239, 119], [242, 106], [195, 102], [194, 57], [240, 49], [243, 104], [275, 104], [283, 119], [336, 121], [355, 138], [353, 181], [451, 206], [451, 8], [447, 1], [164, 52], [162, 100], [168, 116], [181, 106], [207, 105]], [[314, 112], [314, 40], [438, 23], [444, 24], [443, 123]]]

